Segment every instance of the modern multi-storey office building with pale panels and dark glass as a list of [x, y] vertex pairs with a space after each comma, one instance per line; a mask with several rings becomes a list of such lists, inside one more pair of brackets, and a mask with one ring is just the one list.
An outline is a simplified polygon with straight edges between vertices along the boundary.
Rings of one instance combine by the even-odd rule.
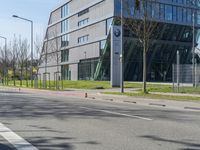
[[[194, 21], [198, 39], [200, 1], [149, 0], [148, 3], [148, 12], [158, 24], [147, 53], [147, 80], [171, 81], [177, 50], [181, 63], [192, 62], [192, 25]], [[134, 10], [134, 1], [131, 7]], [[116, 67], [111, 60], [119, 59], [119, 53], [112, 56], [113, 46], [117, 46], [113, 44], [112, 29], [120, 27], [120, 14], [120, 0], [64, 1], [50, 14], [40, 73], [50, 73], [51, 79], [57, 74], [65, 80], [110, 80], [112, 67]], [[124, 15], [128, 18], [126, 9]], [[125, 80], [141, 81], [142, 47], [126, 26], [123, 36]]]

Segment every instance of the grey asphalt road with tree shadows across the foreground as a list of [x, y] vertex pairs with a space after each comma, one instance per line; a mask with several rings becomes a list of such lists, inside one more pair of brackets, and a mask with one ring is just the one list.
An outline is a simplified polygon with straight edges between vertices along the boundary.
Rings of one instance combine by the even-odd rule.
[[0, 150], [200, 150], [200, 113], [0, 91]]

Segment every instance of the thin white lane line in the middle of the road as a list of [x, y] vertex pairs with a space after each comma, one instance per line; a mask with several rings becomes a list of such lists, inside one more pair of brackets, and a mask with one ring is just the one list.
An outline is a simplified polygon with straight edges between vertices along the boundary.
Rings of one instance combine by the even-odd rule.
[[103, 109], [94, 109], [94, 108], [88, 108], [88, 107], [81, 107], [87, 110], [94, 110], [94, 111], [100, 111], [108, 114], [113, 114], [113, 115], [120, 115], [120, 116], [125, 116], [125, 117], [131, 117], [131, 118], [137, 118], [137, 119], [142, 119], [142, 120], [147, 120], [147, 121], [152, 121], [153, 119], [151, 118], [145, 118], [145, 117], [140, 117], [140, 116], [135, 116], [135, 115], [129, 115], [129, 114], [124, 114], [124, 113], [118, 113], [114, 111], [109, 111], [109, 110], [103, 110]]

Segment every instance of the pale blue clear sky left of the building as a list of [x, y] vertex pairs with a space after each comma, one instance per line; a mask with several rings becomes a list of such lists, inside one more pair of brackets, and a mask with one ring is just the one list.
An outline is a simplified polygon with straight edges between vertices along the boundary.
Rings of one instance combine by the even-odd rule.
[[[49, 14], [62, 0], [1, 0], [0, 4], [0, 36], [11, 41], [14, 35], [30, 40], [30, 23], [13, 18], [18, 15], [33, 20], [34, 39], [43, 39]], [[0, 39], [0, 44], [2, 44]], [[0, 45], [1, 46], [1, 45]]]

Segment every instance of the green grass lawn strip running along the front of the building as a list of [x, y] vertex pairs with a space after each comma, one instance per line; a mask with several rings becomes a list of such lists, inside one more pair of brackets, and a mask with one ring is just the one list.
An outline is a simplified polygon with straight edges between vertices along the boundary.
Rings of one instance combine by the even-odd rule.
[[[33, 82], [35, 83], [35, 82]], [[41, 83], [42, 84], [42, 83]], [[13, 86], [13, 81], [9, 81], [9, 85]], [[20, 86], [20, 81], [16, 81], [17, 87]], [[42, 86], [42, 85], [41, 85]], [[26, 87], [26, 81], [22, 81], [22, 87]], [[31, 82], [28, 81], [28, 87], [31, 87]], [[38, 81], [38, 87], [40, 87], [40, 82]], [[43, 87], [43, 86], [42, 86]], [[55, 89], [54, 81], [47, 82], [47, 88], [49, 87], [53, 90]], [[61, 83], [60, 83], [61, 87]], [[111, 89], [109, 81], [63, 81], [63, 89], [67, 88], [75, 88], [75, 89], [96, 89], [98, 87], [102, 87], [103, 89]], [[135, 88], [138, 92], [142, 90], [142, 83], [137, 82], [125, 82], [125, 88]], [[173, 88], [172, 85], [164, 85], [164, 84], [147, 84], [147, 90], [149, 92], [162, 92], [162, 93], [172, 93]], [[200, 87], [181, 87], [180, 93], [190, 93], [190, 94], [200, 94]]]

